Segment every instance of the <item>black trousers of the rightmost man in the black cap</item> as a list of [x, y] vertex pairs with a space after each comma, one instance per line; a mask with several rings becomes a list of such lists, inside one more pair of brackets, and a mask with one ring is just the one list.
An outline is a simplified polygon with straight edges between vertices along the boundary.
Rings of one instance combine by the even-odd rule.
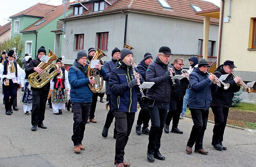
[[212, 106], [212, 112], [214, 114], [214, 127], [212, 135], [213, 144], [222, 144], [223, 135], [228, 119], [228, 107]]

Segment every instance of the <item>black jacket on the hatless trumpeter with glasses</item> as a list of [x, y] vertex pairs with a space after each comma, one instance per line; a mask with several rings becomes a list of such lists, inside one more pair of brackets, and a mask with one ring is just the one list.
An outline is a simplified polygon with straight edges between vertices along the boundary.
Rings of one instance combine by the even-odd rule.
[[[173, 64], [172, 64], [173, 66]], [[181, 75], [182, 72], [181, 72], [181, 69], [178, 70], [174, 67], [174, 70], [175, 70], [175, 74], [176, 75]], [[182, 78], [180, 80], [180, 87], [173, 87], [172, 88], [172, 91], [171, 91], [171, 98], [183, 98], [186, 94], [186, 89], [188, 88], [188, 79], [185, 77], [185, 78]]]

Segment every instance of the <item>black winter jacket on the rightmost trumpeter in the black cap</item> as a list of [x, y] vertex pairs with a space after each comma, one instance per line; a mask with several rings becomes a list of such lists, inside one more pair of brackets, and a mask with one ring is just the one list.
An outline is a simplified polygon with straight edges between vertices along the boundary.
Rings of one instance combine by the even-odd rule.
[[[224, 71], [223, 65], [220, 65], [214, 72], [214, 75], [217, 78], [225, 74], [227, 73]], [[238, 92], [240, 90], [240, 86], [236, 84], [232, 74], [228, 75], [228, 77], [223, 82], [229, 83], [230, 86], [227, 90], [224, 90], [224, 85], [221, 84], [221, 87], [218, 88], [217, 92], [212, 93], [211, 106], [231, 107], [234, 92]]]

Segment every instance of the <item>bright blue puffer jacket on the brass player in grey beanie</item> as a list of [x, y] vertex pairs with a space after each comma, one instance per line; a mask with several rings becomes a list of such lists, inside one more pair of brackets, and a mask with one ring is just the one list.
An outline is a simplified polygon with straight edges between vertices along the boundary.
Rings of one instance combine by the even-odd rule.
[[[68, 71], [68, 81], [70, 84], [70, 101], [75, 103], [91, 103], [92, 91], [88, 84], [87, 67], [83, 67], [77, 60], [74, 61], [73, 66]], [[106, 76], [106, 70], [101, 68], [100, 75], [103, 78]]]

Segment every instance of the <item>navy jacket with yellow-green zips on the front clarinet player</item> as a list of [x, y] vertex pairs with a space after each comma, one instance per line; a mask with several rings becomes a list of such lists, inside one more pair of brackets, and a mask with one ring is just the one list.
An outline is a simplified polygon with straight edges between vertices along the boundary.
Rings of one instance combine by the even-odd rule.
[[[137, 93], [138, 86], [128, 87], [128, 83], [134, 79], [131, 66], [119, 61], [119, 66], [110, 72], [109, 86], [111, 90], [111, 110], [136, 112], [137, 111]], [[139, 72], [135, 68], [136, 72]], [[143, 82], [143, 78], [140, 83]]]

